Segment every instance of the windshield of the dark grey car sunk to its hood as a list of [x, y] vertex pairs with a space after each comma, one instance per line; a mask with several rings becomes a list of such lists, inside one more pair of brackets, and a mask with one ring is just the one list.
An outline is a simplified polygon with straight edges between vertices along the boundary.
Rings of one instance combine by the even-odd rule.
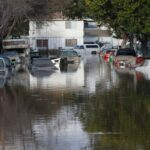
[[37, 67], [50, 67], [53, 63], [48, 59], [34, 59], [33, 65]]

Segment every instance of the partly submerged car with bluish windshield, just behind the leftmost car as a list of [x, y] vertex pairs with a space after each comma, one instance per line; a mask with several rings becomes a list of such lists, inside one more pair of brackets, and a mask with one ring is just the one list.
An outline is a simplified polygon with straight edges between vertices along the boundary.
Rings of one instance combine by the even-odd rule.
[[8, 57], [11, 60], [12, 65], [15, 65], [17, 63], [20, 63], [21, 60], [19, 58], [19, 55], [16, 51], [7, 51], [3, 53], [3, 56]]

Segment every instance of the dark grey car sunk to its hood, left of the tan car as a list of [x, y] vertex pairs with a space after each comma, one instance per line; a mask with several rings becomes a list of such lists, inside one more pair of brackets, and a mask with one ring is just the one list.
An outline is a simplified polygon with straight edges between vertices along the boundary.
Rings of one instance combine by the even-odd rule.
[[56, 70], [56, 67], [49, 58], [33, 58], [29, 66], [31, 74], [37, 77], [49, 76]]

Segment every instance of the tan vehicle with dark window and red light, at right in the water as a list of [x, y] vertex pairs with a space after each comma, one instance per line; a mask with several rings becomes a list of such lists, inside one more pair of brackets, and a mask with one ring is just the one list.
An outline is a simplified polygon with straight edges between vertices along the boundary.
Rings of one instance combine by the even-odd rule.
[[131, 48], [121, 48], [117, 50], [114, 65], [120, 68], [126, 67], [136, 67], [141, 65], [144, 61], [142, 56], [138, 56], [134, 49]]

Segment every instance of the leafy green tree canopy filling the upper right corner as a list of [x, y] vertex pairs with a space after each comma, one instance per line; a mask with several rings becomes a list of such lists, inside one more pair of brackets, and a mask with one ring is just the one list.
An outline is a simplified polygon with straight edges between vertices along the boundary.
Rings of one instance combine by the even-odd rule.
[[132, 42], [136, 37], [146, 53], [150, 38], [149, 0], [85, 0], [88, 14], [95, 20], [108, 24], [117, 36]]

